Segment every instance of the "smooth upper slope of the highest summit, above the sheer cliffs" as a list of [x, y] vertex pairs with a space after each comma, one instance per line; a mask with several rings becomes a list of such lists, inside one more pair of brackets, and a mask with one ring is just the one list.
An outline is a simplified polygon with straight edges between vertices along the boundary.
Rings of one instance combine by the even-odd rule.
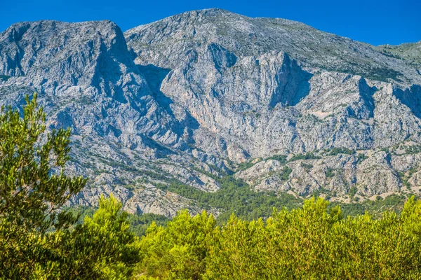
[[[290, 20], [248, 18], [221, 9], [194, 10], [125, 32], [138, 63], [153, 61], [173, 69], [185, 52], [210, 42], [240, 56], [283, 50], [305, 64], [366, 78], [396, 78], [420, 83], [405, 60], [378, 52], [372, 45], [326, 33]], [[399, 78], [400, 77], [400, 78]]]

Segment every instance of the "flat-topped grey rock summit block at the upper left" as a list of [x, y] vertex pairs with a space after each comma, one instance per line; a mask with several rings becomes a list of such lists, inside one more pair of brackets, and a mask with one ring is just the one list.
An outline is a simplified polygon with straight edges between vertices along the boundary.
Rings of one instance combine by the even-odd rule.
[[58, 83], [77, 84], [80, 78], [92, 79], [101, 71], [93, 67], [100, 61], [133, 64], [121, 30], [107, 20], [22, 22], [1, 33], [0, 42], [0, 72], [9, 76], [36, 77], [48, 72]]

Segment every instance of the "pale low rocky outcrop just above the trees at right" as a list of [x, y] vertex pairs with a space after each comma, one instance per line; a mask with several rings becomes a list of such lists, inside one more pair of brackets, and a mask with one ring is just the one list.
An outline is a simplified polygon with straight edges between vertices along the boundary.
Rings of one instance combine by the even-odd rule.
[[[392, 166], [392, 158], [399, 160], [399, 156], [392, 157], [384, 151], [377, 151], [367, 159], [356, 154], [339, 154], [285, 164], [262, 160], [236, 176], [246, 180], [255, 190], [293, 191], [301, 196], [314, 192], [345, 196], [354, 186], [359, 195], [371, 197], [401, 190], [401, 177]], [[413, 181], [417, 180], [416, 176]]]

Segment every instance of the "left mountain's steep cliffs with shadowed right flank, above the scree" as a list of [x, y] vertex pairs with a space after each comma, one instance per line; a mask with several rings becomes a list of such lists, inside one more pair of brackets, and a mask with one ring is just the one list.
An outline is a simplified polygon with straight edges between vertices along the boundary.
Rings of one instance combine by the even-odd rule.
[[[54, 127], [70, 125], [77, 134], [95, 132], [109, 139], [131, 130], [151, 132], [164, 143], [178, 141], [174, 133], [162, 137], [171, 123], [151, 97], [114, 23], [23, 22], [4, 31], [0, 42], [0, 71], [13, 76], [3, 87], [26, 83], [50, 97]], [[126, 138], [142, 146], [139, 137]]]

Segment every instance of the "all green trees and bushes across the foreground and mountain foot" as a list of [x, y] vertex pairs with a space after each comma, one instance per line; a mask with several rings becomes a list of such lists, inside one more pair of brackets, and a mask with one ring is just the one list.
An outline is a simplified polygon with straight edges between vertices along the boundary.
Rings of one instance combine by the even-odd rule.
[[168, 187], [227, 209], [218, 218], [133, 216], [113, 196], [66, 208], [86, 186], [64, 172], [70, 130], [48, 132], [36, 94], [26, 99], [0, 115], [0, 279], [421, 279], [415, 197], [344, 207], [227, 176], [218, 195]]

